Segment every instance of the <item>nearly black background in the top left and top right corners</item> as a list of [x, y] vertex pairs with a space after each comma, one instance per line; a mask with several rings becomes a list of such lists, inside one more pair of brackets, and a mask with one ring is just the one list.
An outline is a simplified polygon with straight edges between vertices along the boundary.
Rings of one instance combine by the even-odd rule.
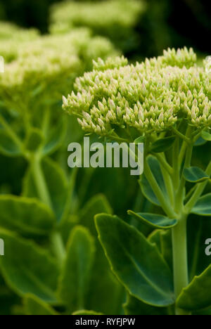
[[[48, 32], [49, 7], [62, 0], [0, 0], [1, 20]], [[80, 0], [77, 0], [80, 1]], [[98, 0], [101, 1], [101, 0]], [[192, 46], [210, 53], [210, 1], [147, 0], [148, 11], [136, 25], [139, 42], [127, 56], [158, 56], [163, 49]]]

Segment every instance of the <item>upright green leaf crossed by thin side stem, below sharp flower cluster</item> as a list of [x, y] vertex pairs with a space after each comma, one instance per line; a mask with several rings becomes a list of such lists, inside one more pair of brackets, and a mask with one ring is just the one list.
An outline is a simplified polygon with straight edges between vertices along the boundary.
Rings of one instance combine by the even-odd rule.
[[[158, 185], [160, 186], [160, 189], [162, 193], [165, 195], [165, 198], [168, 199], [168, 193], [167, 189], [165, 187], [165, 181], [162, 176], [162, 170], [160, 169], [160, 164], [156, 157], [153, 157], [150, 155], [147, 158], [148, 165], [151, 167], [151, 171], [153, 173], [153, 176], [155, 177]], [[145, 174], [141, 176], [141, 180], [139, 181], [141, 185], [141, 191], [143, 195], [154, 205], [160, 206], [160, 202], [158, 201], [158, 198], [155, 196], [155, 193], [153, 192], [153, 189], [151, 188], [151, 185], [148, 183], [148, 180], [146, 179]]]

